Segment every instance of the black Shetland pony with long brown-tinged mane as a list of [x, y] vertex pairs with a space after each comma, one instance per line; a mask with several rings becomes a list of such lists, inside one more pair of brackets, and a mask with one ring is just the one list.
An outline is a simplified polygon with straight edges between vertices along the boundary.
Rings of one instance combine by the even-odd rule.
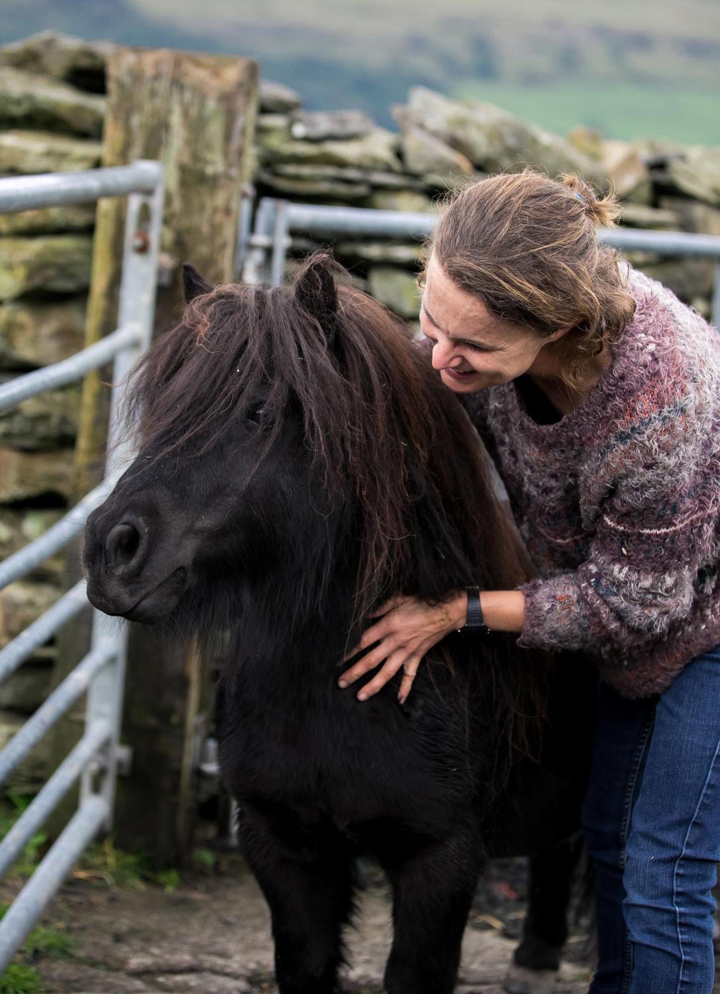
[[340, 989], [361, 852], [393, 890], [387, 991], [450, 994], [490, 855], [533, 857], [516, 962], [557, 967], [592, 690], [499, 634], [444, 640], [405, 705], [397, 682], [364, 704], [338, 688], [389, 595], [528, 568], [456, 398], [332, 267], [215, 289], [188, 267], [182, 323], [134, 375], [140, 454], [90, 516], [88, 592], [222, 645], [221, 764], [281, 994]]

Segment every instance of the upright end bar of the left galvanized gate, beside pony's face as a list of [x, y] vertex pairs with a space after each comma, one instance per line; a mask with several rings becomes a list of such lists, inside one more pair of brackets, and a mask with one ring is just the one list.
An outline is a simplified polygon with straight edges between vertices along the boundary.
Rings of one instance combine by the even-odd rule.
[[[151, 197], [134, 194], [127, 202], [118, 320], [122, 326], [137, 329], [138, 341], [134, 347], [123, 349], [115, 356], [105, 463], [105, 473], [111, 478], [119, 476], [135, 455], [134, 441], [120, 420], [121, 402], [127, 374], [152, 338], [162, 203], [161, 185]], [[142, 232], [143, 238], [138, 238], [139, 232]], [[104, 826], [107, 831], [112, 827], [115, 798], [127, 635], [127, 622], [118, 625], [115, 618], [109, 618], [100, 611], [94, 612], [93, 651], [111, 646], [112, 661], [95, 674], [90, 684], [86, 720], [89, 726], [106, 723], [110, 726], [111, 735], [107, 763], [100, 781], [93, 783], [90, 772], [86, 771], [81, 784], [81, 798], [85, 802], [95, 792], [101, 795], [105, 804]]]

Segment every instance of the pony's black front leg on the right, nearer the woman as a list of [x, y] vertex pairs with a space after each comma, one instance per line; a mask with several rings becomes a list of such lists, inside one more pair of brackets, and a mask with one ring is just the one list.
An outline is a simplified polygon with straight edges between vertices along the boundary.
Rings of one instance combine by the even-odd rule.
[[470, 831], [384, 861], [395, 926], [388, 994], [452, 994], [481, 865], [480, 837]]

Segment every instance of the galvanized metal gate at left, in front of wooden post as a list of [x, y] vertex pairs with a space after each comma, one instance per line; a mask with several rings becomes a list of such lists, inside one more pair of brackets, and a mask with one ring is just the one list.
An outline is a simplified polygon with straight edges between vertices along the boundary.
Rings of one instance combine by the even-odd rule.
[[[152, 335], [162, 181], [160, 164], [147, 161], [88, 172], [0, 180], [0, 213], [129, 195], [117, 330], [63, 362], [16, 377], [0, 387], [0, 411], [4, 411], [43, 391], [79, 380], [113, 360], [105, 478], [44, 535], [0, 564], [0, 589], [24, 577], [82, 531], [90, 511], [108, 496], [131, 457], [120, 431], [118, 385]], [[77, 583], [0, 650], [0, 680], [88, 605], [85, 586], [85, 580]], [[90, 652], [0, 752], [2, 785], [45, 733], [87, 693], [83, 738], [0, 843], [1, 875], [76, 781], [81, 780], [78, 810], [0, 922], [0, 972], [92, 838], [100, 829], [110, 827], [126, 644], [127, 623], [94, 611]]]

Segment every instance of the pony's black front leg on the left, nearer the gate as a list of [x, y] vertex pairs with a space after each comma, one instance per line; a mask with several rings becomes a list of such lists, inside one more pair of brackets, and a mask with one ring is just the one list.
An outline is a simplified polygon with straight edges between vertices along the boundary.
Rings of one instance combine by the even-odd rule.
[[352, 860], [341, 836], [303, 831], [243, 805], [240, 844], [270, 906], [279, 994], [337, 994], [342, 928], [352, 911]]

